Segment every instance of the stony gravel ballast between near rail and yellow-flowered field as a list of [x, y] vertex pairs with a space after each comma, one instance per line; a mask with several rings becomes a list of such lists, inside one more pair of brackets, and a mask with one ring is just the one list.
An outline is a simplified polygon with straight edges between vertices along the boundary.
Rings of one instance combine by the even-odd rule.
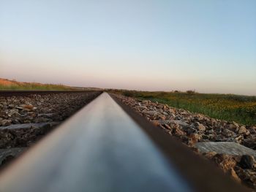
[[[234, 180], [256, 190], [255, 126], [217, 120], [158, 102], [115, 96], [170, 137], [180, 140], [198, 155], [211, 159]], [[207, 152], [202, 149], [207, 149]]]

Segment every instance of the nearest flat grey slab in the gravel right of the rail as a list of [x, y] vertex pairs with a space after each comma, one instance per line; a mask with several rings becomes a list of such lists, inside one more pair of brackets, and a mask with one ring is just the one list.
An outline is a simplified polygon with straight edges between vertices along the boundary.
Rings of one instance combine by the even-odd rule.
[[244, 147], [236, 142], [197, 142], [195, 147], [201, 153], [216, 152], [226, 155], [252, 155], [256, 157], [256, 151]]

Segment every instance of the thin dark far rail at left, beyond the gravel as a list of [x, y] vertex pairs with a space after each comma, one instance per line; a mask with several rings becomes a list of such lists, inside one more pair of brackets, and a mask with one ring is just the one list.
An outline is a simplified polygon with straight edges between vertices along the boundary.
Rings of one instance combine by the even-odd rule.
[[59, 93], [83, 93], [83, 92], [91, 92], [91, 91], [44, 91], [44, 90], [37, 90], [37, 91], [0, 91], [0, 96], [30, 96], [33, 94], [45, 95], [45, 94], [59, 94]]

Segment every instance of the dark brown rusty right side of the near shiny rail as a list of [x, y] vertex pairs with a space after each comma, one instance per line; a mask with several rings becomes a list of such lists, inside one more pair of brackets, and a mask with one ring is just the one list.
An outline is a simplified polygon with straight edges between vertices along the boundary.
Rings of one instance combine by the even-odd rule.
[[175, 137], [170, 137], [169, 134], [161, 130], [162, 128], [154, 126], [138, 112], [122, 103], [113, 93], [110, 93], [110, 96], [138, 123], [140, 128], [159, 147], [159, 150], [164, 153], [167, 161], [176, 166], [178, 172], [186, 178], [189, 185], [195, 188], [195, 191], [251, 191], [224, 174], [210, 161], [195, 154]]

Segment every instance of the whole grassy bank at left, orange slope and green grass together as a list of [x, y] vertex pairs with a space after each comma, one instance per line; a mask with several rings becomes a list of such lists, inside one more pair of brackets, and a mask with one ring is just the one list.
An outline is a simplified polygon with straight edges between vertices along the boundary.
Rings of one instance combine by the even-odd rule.
[[0, 91], [11, 90], [48, 90], [48, 91], [71, 91], [75, 88], [66, 85], [42, 84], [38, 82], [18, 82], [0, 78]]

